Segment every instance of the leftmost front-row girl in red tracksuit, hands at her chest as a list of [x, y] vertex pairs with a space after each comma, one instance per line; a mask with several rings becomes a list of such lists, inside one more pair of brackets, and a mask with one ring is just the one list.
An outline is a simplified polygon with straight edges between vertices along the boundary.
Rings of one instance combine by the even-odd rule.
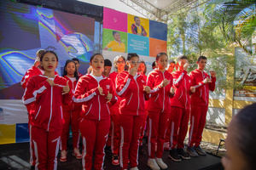
[[58, 57], [46, 51], [40, 59], [44, 75], [27, 82], [23, 103], [34, 105], [31, 111], [31, 138], [34, 144], [36, 165], [39, 170], [57, 169], [56, 156], [62, 129], [62, 102], [71, 101], [71, 93], [65, 78], [55, 76]]

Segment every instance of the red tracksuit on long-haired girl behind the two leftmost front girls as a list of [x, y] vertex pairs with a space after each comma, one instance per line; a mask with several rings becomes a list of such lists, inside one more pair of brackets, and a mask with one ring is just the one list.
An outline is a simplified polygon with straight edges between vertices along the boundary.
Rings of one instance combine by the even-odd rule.
[[[77, 80], [72, 81], [69, 77], [65, 76], [68, 81], [68, 86], [72, 93], [74, 94], [74, 90], [77, 85]], [[74, 105], [73, 102], [68, 105], [62, 105], [63, 107], [63, 117], [64, 117], [64, 125], [61, 133], [61, 150], [67, 150], [67, 140], [69, 137], [69, 125], [71, 124], [72, 128], [72, 136], [73, 136], [73, 149], [79, 148], [79, 116], [82, 111], [81, 105]]]

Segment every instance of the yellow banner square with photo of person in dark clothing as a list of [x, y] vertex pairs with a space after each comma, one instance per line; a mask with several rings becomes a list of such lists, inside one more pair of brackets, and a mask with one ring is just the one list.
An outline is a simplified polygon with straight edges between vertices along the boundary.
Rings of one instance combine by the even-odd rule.
[[149, 20], [138, 17], [132, 14], [127, 15], [127, 30], [128, 33], [136, 34], [138, 36], [149, 36]]

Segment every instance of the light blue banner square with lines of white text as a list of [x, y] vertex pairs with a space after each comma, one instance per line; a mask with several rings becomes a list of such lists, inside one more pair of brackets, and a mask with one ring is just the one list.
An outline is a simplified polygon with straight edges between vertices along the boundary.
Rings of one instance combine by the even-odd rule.
[[149, 56], [148, 37], [128, 33], [128, 53], [137, 53], [140, 55]]

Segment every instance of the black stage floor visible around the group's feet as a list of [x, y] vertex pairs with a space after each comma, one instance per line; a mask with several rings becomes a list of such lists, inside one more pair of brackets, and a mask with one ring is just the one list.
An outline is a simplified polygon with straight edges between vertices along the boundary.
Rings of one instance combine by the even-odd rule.
[[[69, 144], [70, 146], [71, 144]], [[71, 148], [71, 146], [69, 147]], [[68, 150], [67, 162], [58, 161], [58, 170], [79, 170], [82, 169], [81, 161], [76, 160], [72, 156], [72, 150]], [[168, 157], [168, 152], [164, 153], [164, 161], [168, 164], [168, 169], [171, 170], [222, 170], [223, 167], [220, 163], [220, 157], [212, 156], [207, 154], [207, 156], [199, 156], [191, 158], [191, 160], [184, 160], [181, 162], [171, 161]], [[139, 154], [139, 166], [140, 170], [150, 170], [147, 167], [148, 156], [146, 154], [145, 148], [140, 150]], [[2, 170], [26, 170], [29, 167], [29, 144], [2, 144], [0, 145], [0, 169]], [[115, 167], [111, 165], [111, 154], [106, 151], [105, 156], [105, 170], [119, 170], [120, 167]]]

